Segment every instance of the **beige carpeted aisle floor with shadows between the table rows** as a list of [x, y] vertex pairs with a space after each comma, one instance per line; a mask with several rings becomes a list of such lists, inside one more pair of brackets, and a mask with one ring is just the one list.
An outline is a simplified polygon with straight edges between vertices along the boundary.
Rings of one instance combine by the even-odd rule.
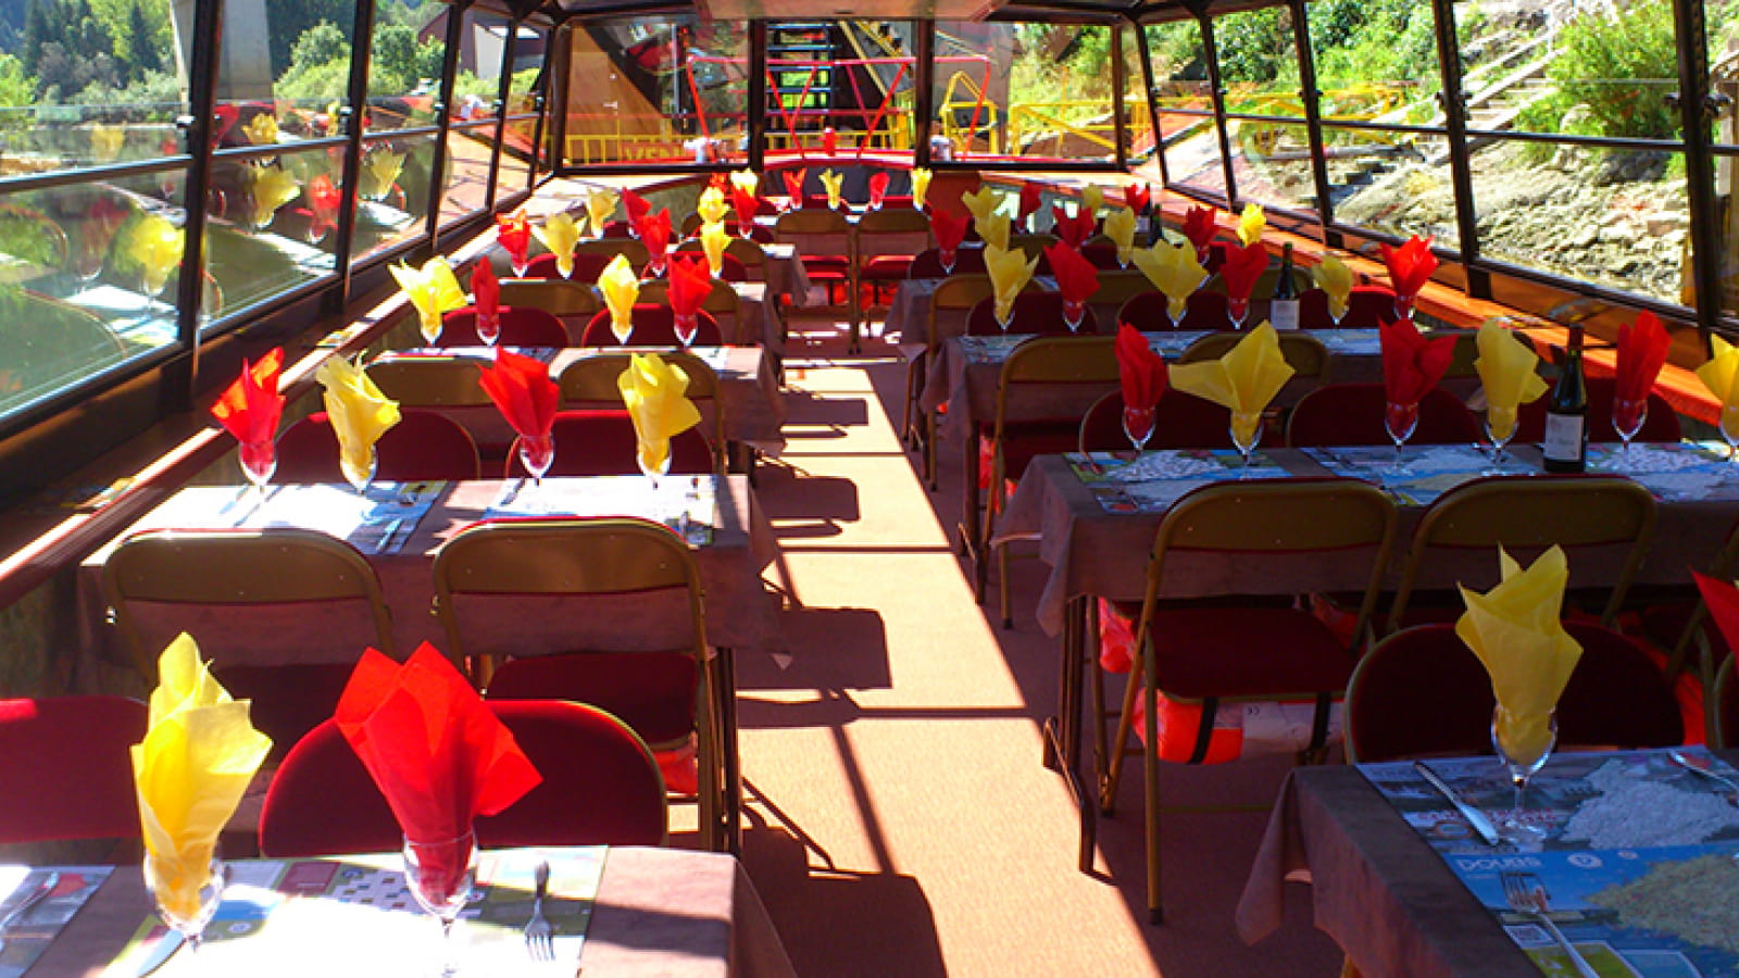
[[[1296, 888], [1287, 929], [1243, 945], [1231, 910], [1285, 764], [1172, 767], [1165, 792], [1247, 811], [1167, 813], [1163, 926], [1146, 924], [1139, 773], [1075, 868], [1076, 818], [1040, 762], [1057, 640], [972, 600], [944, 533], [958, 477], [927, 492], [897, 423], [904, 365], [796, 322], [790, 449], [756, 492], [783, 545], [784, 647], [739, 656], [743, 858], [805, 978], [1330, 976], [1341, 957]], [[892, 419], [890, 419], [892, 418]], [[1139, 769], [1137, 769], [1139, 771]]]

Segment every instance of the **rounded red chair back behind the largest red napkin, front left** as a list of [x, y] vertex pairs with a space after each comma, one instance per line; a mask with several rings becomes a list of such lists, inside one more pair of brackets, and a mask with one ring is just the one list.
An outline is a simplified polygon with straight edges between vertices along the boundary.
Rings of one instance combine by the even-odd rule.
[[[478, 846], [663, 846], [664, 778], [619, 719], [565, 700], [503, 700], [489, 708], [513, 731], [543, 781], [506, 811], [476, 820]], [[369, 769], [327, 720], [278, 766], [259, 816], [259, 849], [275, 858], [391, 851], [398, 821]]]

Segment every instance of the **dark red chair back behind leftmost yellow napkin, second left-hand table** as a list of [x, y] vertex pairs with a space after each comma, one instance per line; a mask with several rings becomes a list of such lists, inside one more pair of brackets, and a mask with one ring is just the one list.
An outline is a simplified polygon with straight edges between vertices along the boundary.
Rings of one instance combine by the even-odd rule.
[[[376, 479], [419, 482], [476, 479], [482, 473], [476, 442], [445, 414], [400, 407], [398, 423], [374, 442]], [[325, 411], [290, 425], [278, 435], [278, 482], [344, 482], [337, 465], [337, 435]]]

